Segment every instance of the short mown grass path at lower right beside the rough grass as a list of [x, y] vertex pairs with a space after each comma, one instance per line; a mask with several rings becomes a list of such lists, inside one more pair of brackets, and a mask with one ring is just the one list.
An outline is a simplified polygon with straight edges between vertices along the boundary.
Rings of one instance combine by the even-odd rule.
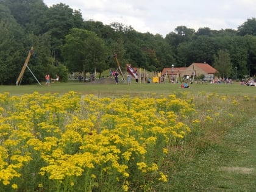
[[[218, 142], [200, 140], [196, 154], [185, 157], [165, 191], [256, 191], [256, 117], [247, 118], [224, 133]], [[184, 151], [183, 151], [184, 152]], [[183, 160], [183, 159], [182, 159]], [[179, 162], [179, 159], [175, 159]]]

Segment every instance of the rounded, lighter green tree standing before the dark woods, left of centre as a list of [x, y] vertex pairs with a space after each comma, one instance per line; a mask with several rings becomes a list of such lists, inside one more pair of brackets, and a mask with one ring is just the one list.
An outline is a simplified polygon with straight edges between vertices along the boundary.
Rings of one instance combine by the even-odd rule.
[[70, 71], [101, 73], [107, 68], [106, 50], [104, 41], [94, 32], [74, 28], [65, 37], [62, 56]]

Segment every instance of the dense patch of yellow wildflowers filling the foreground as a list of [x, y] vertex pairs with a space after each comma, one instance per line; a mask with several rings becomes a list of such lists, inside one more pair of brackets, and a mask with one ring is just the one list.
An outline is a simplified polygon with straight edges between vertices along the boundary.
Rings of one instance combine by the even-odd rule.
[[138, 191], [167, 182], [158, 163], [190, 132], [182, 119], [192, 112], [175, 95], [1, 94], [0, 187]]

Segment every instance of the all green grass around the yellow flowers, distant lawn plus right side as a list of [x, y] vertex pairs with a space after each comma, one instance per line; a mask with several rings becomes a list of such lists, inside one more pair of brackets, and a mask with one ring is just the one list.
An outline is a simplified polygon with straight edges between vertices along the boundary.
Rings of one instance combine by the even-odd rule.
[[256, 191], [256, 87], [225, 84], [91, 84], [0, 86], [11, 95], [76, 91], [98, 97], [157, 97], [175, 94], [195, 105], [190, 135], [170, 146], [162, 168], [168, 182], [148, 191]]

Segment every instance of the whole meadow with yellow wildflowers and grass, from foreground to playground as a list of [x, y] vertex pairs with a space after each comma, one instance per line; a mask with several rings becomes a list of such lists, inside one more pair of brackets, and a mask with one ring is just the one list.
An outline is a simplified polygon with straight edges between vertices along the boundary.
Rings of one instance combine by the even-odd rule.
[[0, 86], [0, 191], [255, 191], [256, 87]]

